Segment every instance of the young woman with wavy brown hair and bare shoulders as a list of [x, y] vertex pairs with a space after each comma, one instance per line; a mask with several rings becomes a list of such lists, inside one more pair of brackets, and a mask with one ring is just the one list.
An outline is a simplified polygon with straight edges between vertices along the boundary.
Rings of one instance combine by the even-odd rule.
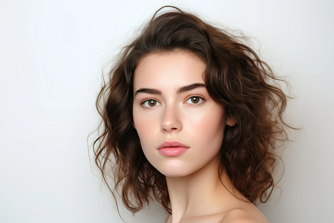
[[254, 204], [270, 197], [276, 142], [289, 140], [279, 79], [240, 37], [180, 9], [155, 14], [97, 98], [105, 183], [113, 173], [132, 212], [154, 197], [167, 223], [268, 222]]

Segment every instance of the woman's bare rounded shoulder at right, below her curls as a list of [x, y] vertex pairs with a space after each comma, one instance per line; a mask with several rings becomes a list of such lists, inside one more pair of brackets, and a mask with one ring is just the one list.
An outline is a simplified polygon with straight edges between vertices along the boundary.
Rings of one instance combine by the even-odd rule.
[[224, 213], [219, 223], [270, 223], [253, 204], [234, 208]]

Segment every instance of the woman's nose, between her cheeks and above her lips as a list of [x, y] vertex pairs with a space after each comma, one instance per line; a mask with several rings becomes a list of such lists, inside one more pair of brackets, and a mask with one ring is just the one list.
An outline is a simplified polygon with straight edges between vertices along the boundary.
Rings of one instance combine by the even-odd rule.
[[178, 118], [178, 111], [175, 106], [167, 106], [165, 108], [162, 121], [162, 132], [178, 132], [182, 129], [181, 121]]

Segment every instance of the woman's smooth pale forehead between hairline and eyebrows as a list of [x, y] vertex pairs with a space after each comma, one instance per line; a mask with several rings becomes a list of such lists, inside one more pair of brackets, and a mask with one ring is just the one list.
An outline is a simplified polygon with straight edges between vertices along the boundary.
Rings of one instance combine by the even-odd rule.
[[204, 62], [189, 53], [150, 54], [139, 62], [134, 72], [133, 88], [136, 91], [142, 87], [163, 89], [204, 83], [205, 68]]

